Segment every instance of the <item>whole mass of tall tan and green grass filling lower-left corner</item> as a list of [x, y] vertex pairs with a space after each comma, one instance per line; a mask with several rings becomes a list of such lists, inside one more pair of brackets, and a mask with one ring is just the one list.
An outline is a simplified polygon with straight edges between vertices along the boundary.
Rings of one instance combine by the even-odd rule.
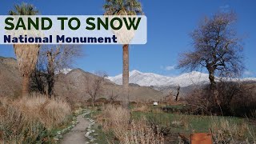
[[0, 143], [51, 143], [51, 130], [71, 114], [61, 99], [46, 96], [0, 101]]

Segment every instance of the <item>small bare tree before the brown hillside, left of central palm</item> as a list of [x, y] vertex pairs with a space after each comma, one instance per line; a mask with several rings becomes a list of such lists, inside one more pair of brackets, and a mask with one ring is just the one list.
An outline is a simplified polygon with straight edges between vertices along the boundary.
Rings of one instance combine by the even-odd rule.
[[105, 72], [96, 72], [95, 75], [96, 77], [90, 77], [90, 75], [86, 77], [86, 93], [90, 95], [93, 107], [98, 94], [103, 90], [102, 84], [107, 77]]

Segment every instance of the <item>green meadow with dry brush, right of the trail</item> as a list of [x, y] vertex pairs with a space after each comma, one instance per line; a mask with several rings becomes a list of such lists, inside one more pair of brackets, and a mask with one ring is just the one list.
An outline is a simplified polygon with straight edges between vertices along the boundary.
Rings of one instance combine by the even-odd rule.
[[248, 118], [187, 114], [186, 106], [173, 106], [175, 112], [149, 104], [105, 105], [93, 118], [108, 143], [186, 143], [190, 134], [211, 134], [214, 143], [253, 143], [255, 125]]

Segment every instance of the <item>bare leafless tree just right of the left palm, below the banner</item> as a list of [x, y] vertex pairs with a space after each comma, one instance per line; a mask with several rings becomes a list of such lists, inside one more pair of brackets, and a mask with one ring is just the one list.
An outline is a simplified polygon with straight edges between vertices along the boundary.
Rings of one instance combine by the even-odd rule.
[[74, 58], [80, 56], [82, 56], [82, 49], [78, 45], [42, 46], [33, 78], [34, 89], [51, 97], [56, 79], [55, 74], [70, 69]]

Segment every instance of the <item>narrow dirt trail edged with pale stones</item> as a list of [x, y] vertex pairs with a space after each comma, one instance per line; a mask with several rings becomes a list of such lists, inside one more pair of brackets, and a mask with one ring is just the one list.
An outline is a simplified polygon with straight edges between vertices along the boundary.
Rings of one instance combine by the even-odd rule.
[[64, 134], [61, 144], [85, 144], [86, 142], [86, 127], [89, 126], [90, 122], [86, 118], [82, 117], [82, 114], [78, 115], [78, 124], [74, 126], [70, 132]]

